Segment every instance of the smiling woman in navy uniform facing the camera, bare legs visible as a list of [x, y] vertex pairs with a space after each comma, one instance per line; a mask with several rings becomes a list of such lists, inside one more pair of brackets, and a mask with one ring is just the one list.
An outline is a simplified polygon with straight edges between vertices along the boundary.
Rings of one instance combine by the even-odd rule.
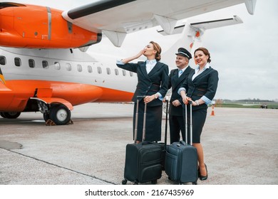
[[[207, 180], [207, 166], [200, 136], [207, 117], [207, 104], [211, 103], [217, 90], [218, 72], [210, 67], [210, 53], [206, 48], [197, 48], [194, 58], [197, 68], [188, 75], [178, 92], [184, 104], [192, 102], [192, 144], [197, 149], [200, 180], [205, 181]], [[188, 115], [190, 116], [189, 113]]]

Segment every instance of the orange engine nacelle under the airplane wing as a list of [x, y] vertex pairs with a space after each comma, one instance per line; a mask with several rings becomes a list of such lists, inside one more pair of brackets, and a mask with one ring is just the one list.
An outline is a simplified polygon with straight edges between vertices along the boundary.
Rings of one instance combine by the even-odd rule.
[[101, 41], [45, 6], [0, 3], [0, 45], [14, 48], [81, 48]]

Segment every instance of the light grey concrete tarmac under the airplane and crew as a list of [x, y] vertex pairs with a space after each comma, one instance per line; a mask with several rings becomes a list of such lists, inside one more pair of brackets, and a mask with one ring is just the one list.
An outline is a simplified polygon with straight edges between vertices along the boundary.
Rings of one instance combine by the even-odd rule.
[[[278, 110], [213, 113], [209, 107], [201, 136], [208, 178], [198, 185], [277, 185]], [[0, 185], [120, 185], [133, 104], [83, 104], [71, 116], [65, 126], [46, 126], [40, 112], [1, 118]], [[158, 185], [173, 184], [163, 171]]]

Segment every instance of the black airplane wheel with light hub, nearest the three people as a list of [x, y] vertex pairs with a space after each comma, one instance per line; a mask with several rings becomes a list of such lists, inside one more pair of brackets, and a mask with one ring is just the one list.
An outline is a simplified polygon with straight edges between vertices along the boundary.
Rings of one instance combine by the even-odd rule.
[[56, 125], [68, 124], [71, 120], [71, 111], [65, 105], [58, 104], [51, 107], [49, 119], [51, 119]]

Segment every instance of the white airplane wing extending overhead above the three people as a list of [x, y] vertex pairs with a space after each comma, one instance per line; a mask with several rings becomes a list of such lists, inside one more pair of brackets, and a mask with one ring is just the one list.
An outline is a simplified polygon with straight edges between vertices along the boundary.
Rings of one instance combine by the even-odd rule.
[[63, 18], [89, 31], [104, 33], [120, 46], [127, 33], [160, 25], [165, 33], [174, 31], [178, 20], [245, 3], [254, 13], [256, 0], [101, 0], [63, 11]]

